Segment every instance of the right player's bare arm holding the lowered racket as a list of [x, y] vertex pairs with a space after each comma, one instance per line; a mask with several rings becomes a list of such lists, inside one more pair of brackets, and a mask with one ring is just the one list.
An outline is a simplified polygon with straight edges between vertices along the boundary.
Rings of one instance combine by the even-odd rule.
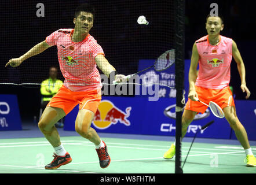
[[196, 89], [195, 89], [196, 77], [198, 76], [196, 72], [196, 68], [198, 67], [198, 61], [199, 61], [199, 53], [196, 47], [196, 43], [194, 43], [193, 49], [192, 49], [191, 64], [190, 64], [189, 73], [188, 73], [188, 81], [189, 81], [188, 98], [190, 98], [192, 101], [195, 101], [195, 97], [198, 98], [198, 94], [196, 94]]

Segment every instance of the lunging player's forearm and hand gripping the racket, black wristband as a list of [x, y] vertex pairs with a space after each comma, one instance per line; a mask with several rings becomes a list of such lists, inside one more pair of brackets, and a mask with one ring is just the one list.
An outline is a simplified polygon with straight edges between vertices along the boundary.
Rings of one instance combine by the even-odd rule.
[[[112, 71], [116, 71], [114, 66], [109, 64], [107, 58], [105, 58], [102, 54], [99, 54], [95, 57], [96, 64], [98, 68], [109, 78], [109, 75]], [[123, 82], [125, 79], [125, 75], [115, 75], [116, 82]]]

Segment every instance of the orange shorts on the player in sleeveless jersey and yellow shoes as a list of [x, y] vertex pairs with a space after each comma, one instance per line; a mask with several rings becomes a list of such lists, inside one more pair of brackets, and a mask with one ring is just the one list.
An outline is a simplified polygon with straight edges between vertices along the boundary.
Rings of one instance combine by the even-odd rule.
[[[232, 92], [228, 87], [224, 89], [213, 89], [213, 88], [203, 88], [196, 86], [196, 93], [198, 94], [198, 98], [200, 101], [209, 105], [209, 102], [215, 102], [221, 109], [226, 106], [235, 106], [235, 102], [233, 99]], [[192, 101], [188, 99], [186, 102], [185, 109], [192, 110], [198, 113], [204, 113], [208, 107], [203, 103], [198, 101]]]

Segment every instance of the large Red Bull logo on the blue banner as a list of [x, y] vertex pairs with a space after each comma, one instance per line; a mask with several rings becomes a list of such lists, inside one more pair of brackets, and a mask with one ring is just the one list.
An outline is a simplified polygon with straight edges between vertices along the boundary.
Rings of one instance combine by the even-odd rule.
[[117, 108], [114, 103], [108, 100], [101, 101], [93, 119], [93, 125], [98, 129], [106, 129], [112, 124], [122, 123], [130, 125], [127, 118], [130, 116], [131, 107], [127, 107], [125, 112]]

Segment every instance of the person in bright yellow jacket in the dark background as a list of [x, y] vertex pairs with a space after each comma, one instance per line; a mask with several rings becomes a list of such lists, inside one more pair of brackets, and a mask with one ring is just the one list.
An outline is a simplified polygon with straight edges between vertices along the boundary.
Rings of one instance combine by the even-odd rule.
[[[41, 83], [40, 92], [42, 95], [41, 100], [41, 111], [40, 111], [40, 117], [42, 114], [42, 111], [45, 110], [47, 103], [49, 103], [50, 99], [58, 92], [60, 87], [63, 85], [63, 82], [59, 79], [57, 79], [58, 70], [55, 66], [50, 67], [49, 69], [49, 78], [46, 80], [43, 80]], [[55, 124], [56, 127], [61, 128], [63, 127], [63, 120], [61, 122], [58, 122]]]

